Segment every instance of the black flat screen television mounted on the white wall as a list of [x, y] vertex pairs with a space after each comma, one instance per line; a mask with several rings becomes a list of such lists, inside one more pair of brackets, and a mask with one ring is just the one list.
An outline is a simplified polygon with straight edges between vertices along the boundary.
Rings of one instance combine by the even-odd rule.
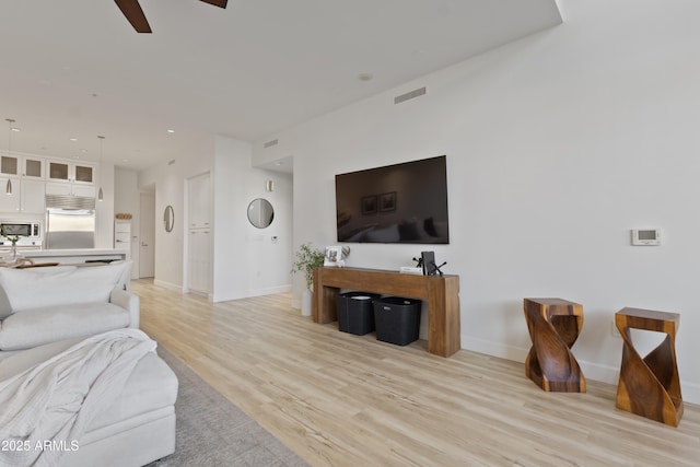
[[338, 242], [447, 244], [446, 156], [336, 175]]

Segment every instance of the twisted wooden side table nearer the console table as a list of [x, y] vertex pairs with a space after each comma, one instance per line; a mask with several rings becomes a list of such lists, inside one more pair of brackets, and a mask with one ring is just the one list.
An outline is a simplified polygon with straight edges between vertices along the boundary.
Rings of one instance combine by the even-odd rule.
[[561, 299], [524, 299], [523, 308], [533, 340], [525, 375], [544, 390], [585, 393], [586, 378], [571, 353], [583, 327], [583, 305]]

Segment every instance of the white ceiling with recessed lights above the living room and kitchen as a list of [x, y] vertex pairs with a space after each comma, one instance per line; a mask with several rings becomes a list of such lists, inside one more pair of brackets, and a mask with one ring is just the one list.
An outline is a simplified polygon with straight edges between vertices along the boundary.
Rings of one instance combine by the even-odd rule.
[[[112, 0], [2, 2], [0, 152], [97, 161], [102, 135], [103, 160], [142, 170], [196, 156], [212, 135], [273, 136], [561, 22], [555, 0], [141, 7], [153, 34]], [[5, 118], [22, 129], [11, 141]]]

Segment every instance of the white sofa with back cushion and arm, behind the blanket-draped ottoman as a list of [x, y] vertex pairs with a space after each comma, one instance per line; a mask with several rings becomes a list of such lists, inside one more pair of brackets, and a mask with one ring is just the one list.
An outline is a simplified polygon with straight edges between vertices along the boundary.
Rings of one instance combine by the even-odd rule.
[[131, 261], [0, 268], [0, 360], [12, 352], [112, 329], [139, 327], [128, 289]]

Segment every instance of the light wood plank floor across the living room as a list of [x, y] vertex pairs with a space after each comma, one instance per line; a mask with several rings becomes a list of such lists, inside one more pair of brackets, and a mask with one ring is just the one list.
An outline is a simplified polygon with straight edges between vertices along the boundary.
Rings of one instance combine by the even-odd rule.
[[617, 410], [615, 386], [545, 393], [521, 363], [339, 332], [289, 294], [132, 290], [145, 332], [313, 466], [700, 465], [698, 406], [667, 427]]

